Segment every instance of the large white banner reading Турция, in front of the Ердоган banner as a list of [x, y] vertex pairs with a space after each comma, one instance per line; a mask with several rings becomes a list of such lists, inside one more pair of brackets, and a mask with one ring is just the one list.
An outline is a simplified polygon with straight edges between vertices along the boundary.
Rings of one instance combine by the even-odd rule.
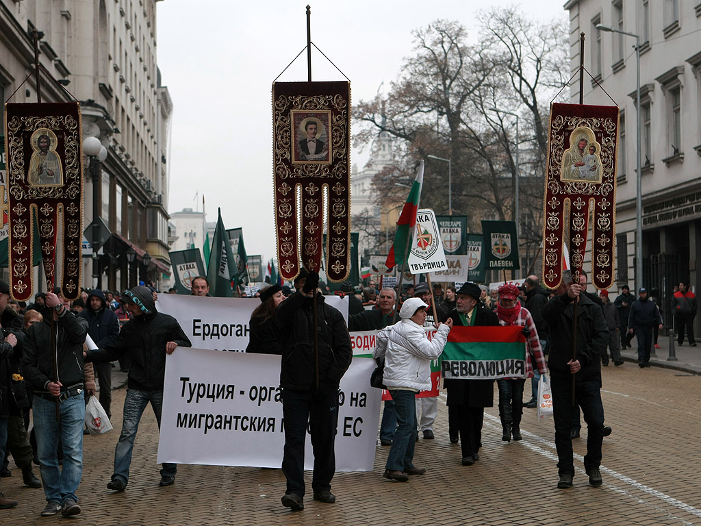
[[[341, 379], [336, 471], [372, 471], [380, 391], [375, 361], [353, 358]], [[178, 347], [165, 361], [158, 463], [279, 468], [285, 433], [280, 356]], [[305, 468], [313, 468], [307, 436]]]

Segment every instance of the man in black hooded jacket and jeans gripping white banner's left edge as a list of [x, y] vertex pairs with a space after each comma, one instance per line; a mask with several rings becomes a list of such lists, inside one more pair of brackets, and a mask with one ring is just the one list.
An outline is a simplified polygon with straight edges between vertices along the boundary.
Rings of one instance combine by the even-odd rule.
[[[156, 311], [154, 295], [148, 287], [127, 290], [127, 309], [132, 315], [119, 336], [106, 349], [86, 353], [86, 361], [117, 360], [129, 353], [131, 365], [124, 400], [122, 432], [114, 450], [114, 473], [107, 484], [110, 490], [123, 492], [129, 482], [134, 439], [144, 409], [151, 403], [156, 414], [158, 429], [161, 428], [163, 409], [163, 380], [165, 356], [172, 354], [177, 346], [191, 346], [177, 320], [168, 314]], [[159, 486], [170, 486], [175, 482], [177, 464], [164, 462]]]

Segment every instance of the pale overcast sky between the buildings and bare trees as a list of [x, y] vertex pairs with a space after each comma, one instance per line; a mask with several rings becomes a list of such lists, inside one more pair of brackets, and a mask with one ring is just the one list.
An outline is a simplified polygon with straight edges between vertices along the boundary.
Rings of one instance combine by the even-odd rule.
[[[191, 0], [158, 2], [158, 67], [173, 100], [168, 212], [202, 210], [243, 227], [248, 254], [275, 256], [271, 86], [311, 40], [351, 79], [352, 104], [374, 97], [414, 53], [411, 32], [457, 20], [475, 39], [478, 8], [520, 6], [538, 20], [566, 19], [564, 0]], [[279, 81], [306, 81], [306, 52]], [[313, 50], [314, 81], [344, 77]], [[351, 123], [351, 129], [353, 123]], [[367, 151], [351, 151], [362, 168]], [[198, 196], [197, 200], [195, 199]]]

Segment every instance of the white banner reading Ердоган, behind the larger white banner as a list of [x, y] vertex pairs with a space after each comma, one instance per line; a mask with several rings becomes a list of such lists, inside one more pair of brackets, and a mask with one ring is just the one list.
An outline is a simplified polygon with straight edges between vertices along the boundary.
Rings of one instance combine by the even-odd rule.
[[[348, 323], [348, 298], [325, 296]], [[159, 294], [156, 309], [177, 320], [190, 342], [199, 349], [243, 353], [248, 345], [248, 322], [261, 304], [258, 298]]]

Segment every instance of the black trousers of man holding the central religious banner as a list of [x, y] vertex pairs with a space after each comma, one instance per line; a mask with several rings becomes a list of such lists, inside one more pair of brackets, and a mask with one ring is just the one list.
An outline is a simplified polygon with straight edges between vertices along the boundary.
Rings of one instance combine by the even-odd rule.
[[334, 439], [339, 422], [338, 388], [318, 391], [283, 389], [283, 417], [283, 473], [287, 478], [286, 493], [296, 493], [304, 497], [304, 442], [307, 424], [314, 452], [312, 490], [330, 490], [331, 479], [336, 471]]

